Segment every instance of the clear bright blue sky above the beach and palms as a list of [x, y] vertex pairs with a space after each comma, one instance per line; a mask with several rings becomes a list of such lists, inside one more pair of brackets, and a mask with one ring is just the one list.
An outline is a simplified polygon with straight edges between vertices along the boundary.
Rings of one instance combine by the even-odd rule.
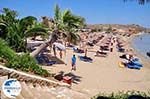
[[41, 16], [53, 17], [55, 4], [84, 17], [88, 24], [139, 24], [150, 28], [150, 4], [123, 0], [0, 0], [0, 9], [16, 10], [19, 18], [36, 16], [40, 20]]

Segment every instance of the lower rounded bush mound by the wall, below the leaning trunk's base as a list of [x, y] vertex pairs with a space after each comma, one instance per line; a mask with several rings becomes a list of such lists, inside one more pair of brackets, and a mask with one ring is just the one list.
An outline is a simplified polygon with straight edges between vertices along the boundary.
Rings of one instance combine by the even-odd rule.
[[35, 59], [30, 57], [29, 54], [18, 55], [18, 57], [8, 61], [6, 66], [9, 68], [20, 69], [25, 72], [33, 72], [44, 77], [50, 76], [48, 71], [37, 65]]

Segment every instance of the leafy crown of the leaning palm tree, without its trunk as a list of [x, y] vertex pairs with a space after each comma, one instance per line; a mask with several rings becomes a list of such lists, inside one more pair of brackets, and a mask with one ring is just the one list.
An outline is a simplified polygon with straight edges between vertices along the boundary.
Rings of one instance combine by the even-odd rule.
[[79, 35], [75, 33], [76, 29], [85, 25], [85, 19], [72, 14], [70, 10], [62, 12], [58, 5], [55, 6], [54, 11], [55, 33], [69, 43], [76, 43], [79, 40]]

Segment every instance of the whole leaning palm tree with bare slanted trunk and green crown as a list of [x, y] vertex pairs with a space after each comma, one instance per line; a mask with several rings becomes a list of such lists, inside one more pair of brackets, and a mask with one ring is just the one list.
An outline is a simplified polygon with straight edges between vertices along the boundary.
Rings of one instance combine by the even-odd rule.
[[36, 56], [42, 49], [51, 45], [58, 38], [64, 38], [70, 43], [75, 43], [79, 39], [79, 35], [75, 33], [76, 29], [82, 28], [85, 25], [84, 18], [72, 14], [70, 10], [61, 12], [58, 5], [54, 8], [53, 20], [54, 29], [50, 35], [50, 39], [31, 53], [31, 56]]

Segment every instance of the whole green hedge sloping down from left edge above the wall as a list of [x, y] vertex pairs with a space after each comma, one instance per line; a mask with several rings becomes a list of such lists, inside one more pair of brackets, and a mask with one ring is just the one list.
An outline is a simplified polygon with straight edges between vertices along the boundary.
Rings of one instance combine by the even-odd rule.
[[33, 57], [27, 53], [17, 55], [2, 39], [0, 39], [0, 57], [7, 60], [5, 65], [8, 68], [33, 72], [44, 77], [50, 76], [49, 72], [42, 69]]

